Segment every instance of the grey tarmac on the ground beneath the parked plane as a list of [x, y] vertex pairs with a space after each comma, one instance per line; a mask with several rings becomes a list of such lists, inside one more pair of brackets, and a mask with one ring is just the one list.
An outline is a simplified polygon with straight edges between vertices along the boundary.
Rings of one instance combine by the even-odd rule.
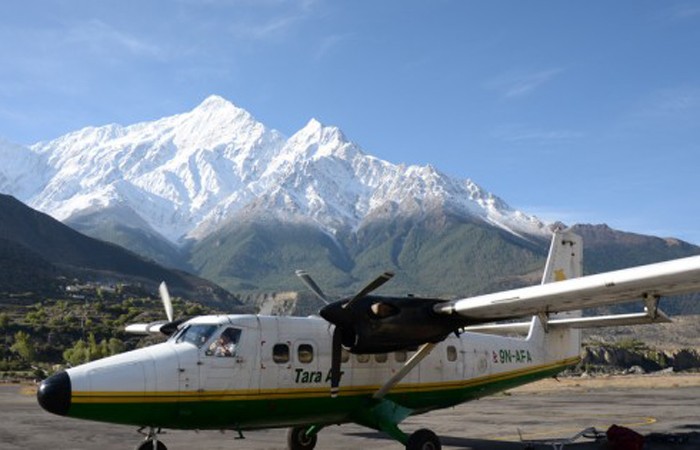
[[[689, 377], [689, 378], [688, 378]], [[407, 419], [401, 428], [430, 428], [445, 450], [522, 450], [521, 441], [566, 439], [585, 428], [605, 432], [612, 424], [647, 436], [645, 450], [700, 449], [700, 374], [619, 380], [546, 381], [455, 408]], [[36, 403], [35, 387], [0, 385], [0, 449], [133, 449], [142, 437], [134, 427], [55, 416]], [[165, 430], [169, 450], [284, 449], [286, 430], [245, 432]], [[684, 443], [674, 443], [673, 440]], [[653, 441], [653, 442], [652, 442]], [[382, 433], [355, 425], [325, 428], [317, 449], [400, 450]], [[537, 444], [536, 449], [553, 448]], [[565, 449], [607, 449], [604, 442], [579, 439]]]

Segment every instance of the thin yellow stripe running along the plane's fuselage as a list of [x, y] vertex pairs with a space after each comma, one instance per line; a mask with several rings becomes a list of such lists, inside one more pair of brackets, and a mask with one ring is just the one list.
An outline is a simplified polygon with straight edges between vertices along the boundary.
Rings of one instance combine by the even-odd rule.
[[[580, 361], [579, 357], [568, 358], [550, 364], [502, 372], [477, 378], [468, 378], [456, 381], [399, 384], [391, 390], [391, 394], [428, 393], [453, 389], [474, 388], [492, 383], [507, 381], [514, 378], [534, 375], [541, 372], [549, 372], [557, 368], [574, 365]], [[379, 390], [379, 385], [367, 386], [342, 386], [340, 396], [371, 395]], [[273, 400], [314, 398], [328, 396], [328, 387], [295, 389], [247, 389], [227, 391], [162, 391], [162, 392], [115, 392], [115, 391], [74, 391], [73, 403], [175, 403], [175, 402], [203, 402], [203, 401], [249, 401], [249, 400]]]

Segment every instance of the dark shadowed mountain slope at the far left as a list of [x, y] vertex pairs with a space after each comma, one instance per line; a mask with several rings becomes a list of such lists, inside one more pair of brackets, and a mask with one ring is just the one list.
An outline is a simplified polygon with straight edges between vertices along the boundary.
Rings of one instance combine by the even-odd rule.
[[174, 295], [237, 303], [214, 283], [84, 236], [13, 197], [0, 195], [0, 211], [0, 293], [56, 295], [73, 278], [138, 284], [157, 292], [158, 284], [165, 280]]

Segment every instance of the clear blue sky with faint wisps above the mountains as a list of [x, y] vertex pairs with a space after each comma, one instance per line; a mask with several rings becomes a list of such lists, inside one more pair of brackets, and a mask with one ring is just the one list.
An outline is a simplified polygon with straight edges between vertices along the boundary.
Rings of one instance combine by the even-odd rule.
[[221, 95], [291, 135], [471, 178], [547, 220], [700, 244], [692, 1], [0, 3], [0, 138]]

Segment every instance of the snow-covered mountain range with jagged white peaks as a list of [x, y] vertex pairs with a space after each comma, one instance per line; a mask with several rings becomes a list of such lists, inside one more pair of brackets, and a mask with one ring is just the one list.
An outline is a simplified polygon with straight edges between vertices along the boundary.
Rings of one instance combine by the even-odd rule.
[[218, 96], [153, 122], [85, 128], [29, 148], [0, 142], [0, 191], [62, 221], [128, 211], [125, 225], [147, 225], [175, 245], [269, 214], [311, 220], [331, 236], [435, 209], [516, 235], [549, 233], [471, 180], [380, 160], [316, 120], [286, 138]]

